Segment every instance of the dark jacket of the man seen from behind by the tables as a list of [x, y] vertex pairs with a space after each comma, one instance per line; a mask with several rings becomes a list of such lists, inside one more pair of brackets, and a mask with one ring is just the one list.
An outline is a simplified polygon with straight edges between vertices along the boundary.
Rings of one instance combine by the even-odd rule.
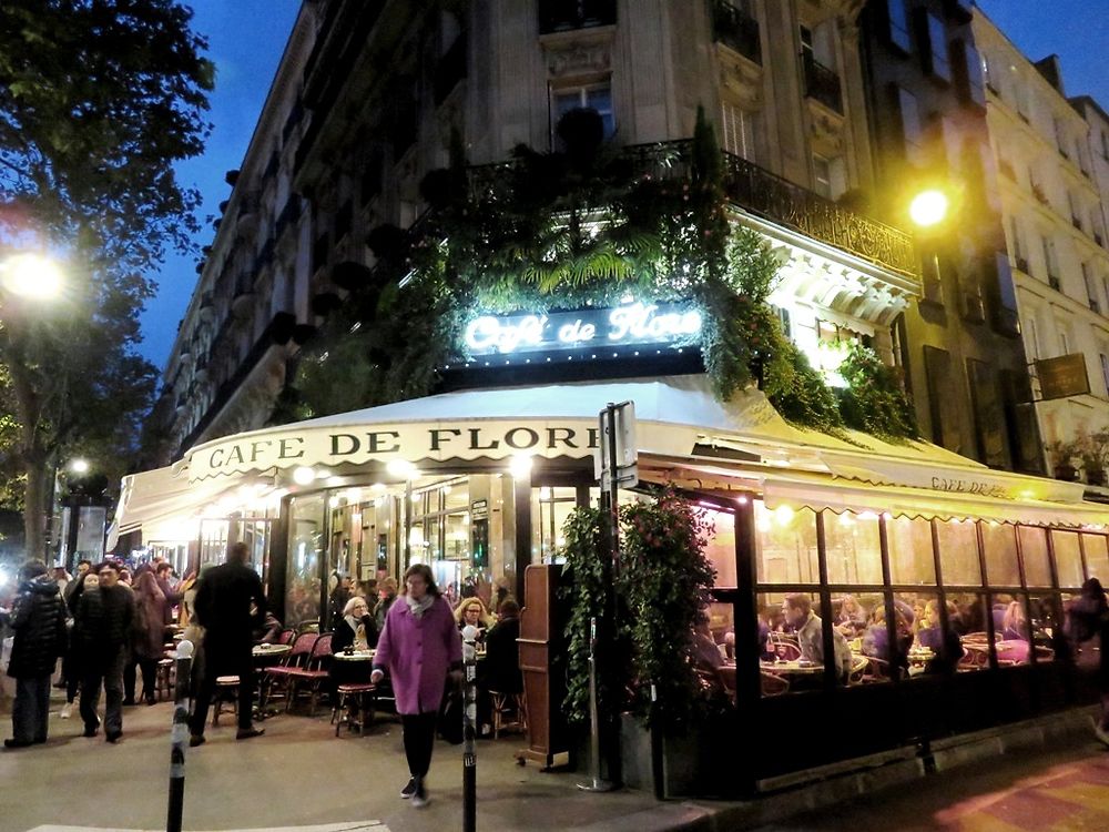
[[266, 598], [258, 574], [245, 564], [221, 564], [201, 578], [194, 602], [196, 620], [205, 630], [205, 646], [220, 641], [224, 648], [254, 641], [254, 629], [265, 621]]

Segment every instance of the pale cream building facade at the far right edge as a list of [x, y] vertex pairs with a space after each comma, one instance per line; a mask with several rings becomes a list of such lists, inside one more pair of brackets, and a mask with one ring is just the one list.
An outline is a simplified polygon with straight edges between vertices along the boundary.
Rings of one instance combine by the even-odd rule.
[[[1069, 443], [1109, 424], [1109, 253], [1091, 129], [1064, 92], [1057, 59], [1031, 62], [980, 12], [971, 26], [1036, 416], [1045, 443]], [[1058, 388], [1060, 366], [1069, 372]], [[1052, 467], [1079, 461], [1077, 451], [1047, 456]], [[1082, 467], [1100, 485], [1101, 466]]]

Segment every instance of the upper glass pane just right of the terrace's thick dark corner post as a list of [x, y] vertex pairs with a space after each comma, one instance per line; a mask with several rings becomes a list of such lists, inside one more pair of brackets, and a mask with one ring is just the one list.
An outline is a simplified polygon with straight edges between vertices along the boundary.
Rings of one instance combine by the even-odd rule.
[[787, 506], [769, 510], [755, 500], [755, 561], [761, 584], [816, 584], [821, 571], [816, 557], [816, 514]]

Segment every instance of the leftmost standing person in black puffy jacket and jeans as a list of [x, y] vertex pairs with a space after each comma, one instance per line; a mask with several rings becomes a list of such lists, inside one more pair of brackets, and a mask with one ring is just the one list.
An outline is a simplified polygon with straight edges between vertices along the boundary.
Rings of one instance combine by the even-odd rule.
[[8, 676], [16, 680], [11, 710], [11, 739], [4, 748], [23, 748], [47, 741], [50, 716], [50, 677], [58, 657], [65, 652], [65, 603], [53, 577], [41, 560], [29, 560], [19, 570], [19, 595], [9, 623], [14, 631]]

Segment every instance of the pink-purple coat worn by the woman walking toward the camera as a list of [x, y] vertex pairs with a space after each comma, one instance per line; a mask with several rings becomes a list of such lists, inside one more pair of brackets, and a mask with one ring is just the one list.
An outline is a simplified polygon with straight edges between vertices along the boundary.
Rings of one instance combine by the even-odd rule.
[[436, 712], [447, 671], [462, 660], [462, 640], [442, 598], [417, 620], [401, 596], [389, 607], [374, 667], [388, 670], [398, 713]]

